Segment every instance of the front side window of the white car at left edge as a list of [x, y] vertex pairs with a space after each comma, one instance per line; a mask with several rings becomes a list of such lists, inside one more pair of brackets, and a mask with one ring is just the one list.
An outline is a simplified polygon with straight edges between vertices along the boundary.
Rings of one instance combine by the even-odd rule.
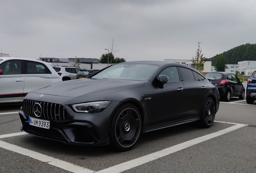
[[21, 74], [21, 60], [9, 60], [0, 65], [3, 75]]

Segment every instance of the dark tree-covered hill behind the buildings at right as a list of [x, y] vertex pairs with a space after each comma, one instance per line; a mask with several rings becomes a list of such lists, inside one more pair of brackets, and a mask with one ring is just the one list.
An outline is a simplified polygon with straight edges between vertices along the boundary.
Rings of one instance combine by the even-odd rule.
[[[244, 60], [256, 60], [256, 44], [243, 44], [221, 54], [225, 56], [228, 64], [237, 64], [237, 62]], [[217, 57], [221, 54], [217, 54], [212, 58], [208, 58], [207, 61], [212, 61], [213, 66], [216, 62]]]

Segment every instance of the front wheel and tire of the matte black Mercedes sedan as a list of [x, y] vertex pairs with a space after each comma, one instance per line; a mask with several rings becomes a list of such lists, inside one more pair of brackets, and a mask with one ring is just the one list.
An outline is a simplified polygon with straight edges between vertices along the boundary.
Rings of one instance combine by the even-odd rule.
[[140, 111], [132, 104], [122, 105], [114, 114], [110, 125], [110, 145], [116, 151], [134, 147], [142, 132]]

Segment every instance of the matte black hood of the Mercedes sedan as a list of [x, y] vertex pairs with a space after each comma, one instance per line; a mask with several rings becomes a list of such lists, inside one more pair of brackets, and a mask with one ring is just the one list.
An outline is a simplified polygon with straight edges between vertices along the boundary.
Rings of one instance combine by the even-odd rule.
[[40, 87], [30, 93], [63, 97], [88, 97], [104, 95], [142, 87], [145, 82], [116, 79], [74, 79]]

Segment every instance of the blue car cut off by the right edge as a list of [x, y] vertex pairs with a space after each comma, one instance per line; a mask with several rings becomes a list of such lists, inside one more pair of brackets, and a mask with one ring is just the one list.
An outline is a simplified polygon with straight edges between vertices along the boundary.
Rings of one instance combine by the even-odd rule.
[[253, 104], [256, 100], [256, 71], [252, 73], [252, 76], [247, 80], [246, 87], [246, 102]]

